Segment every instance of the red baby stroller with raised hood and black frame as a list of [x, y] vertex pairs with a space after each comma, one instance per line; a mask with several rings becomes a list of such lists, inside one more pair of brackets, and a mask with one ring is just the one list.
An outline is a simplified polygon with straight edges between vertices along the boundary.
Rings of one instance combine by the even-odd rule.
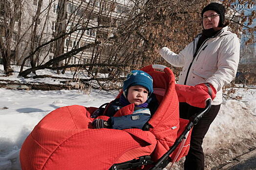
[[[20, 152], [22, 170], [162, 170], [185, 156], [189, 132], [209, 110], [211, 97], [204, 91], [196, 93], [195, 102], [189, 104], [205, 109], [190, 120], [181, 119], [179, 100], [186, 102], [184, 94], [189, 94], [186, 89], [190, 86], [175, 85], [171, 69], [165, 66], [150, 65], [141, 70], [152, 76], [159, 102], [148, 122], [149, 131], [93, 129], [90, 117], [98, 108], [61, 107], [46, 115], [25, 139]], [[132, 113], [132, 105], [126, 106], [127, 110]]]

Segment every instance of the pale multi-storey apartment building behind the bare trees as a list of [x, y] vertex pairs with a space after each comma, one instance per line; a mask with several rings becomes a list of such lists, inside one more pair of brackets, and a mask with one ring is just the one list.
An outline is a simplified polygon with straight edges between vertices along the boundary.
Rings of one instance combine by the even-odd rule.
[[[60, 8], [60, 4], [64, 4], [62, 8]], [[39, 65], [54, 58], [56, 50], [60, 48], [63, 49], [61, 53], [66, 53], [95, 42], [96, 39], [104, 39], [107, 41], [105, 45], [106, 43], [111, 45], [107, 38], [111, 36], [113, 28], [99, 27], [115, 25], [120, 20], [124, 20], [129, 11], [129, 5], [130, 1], [126, 0], [60, 0], [60, 2], [58, 0], [24, 0], [22, 16], [15, 18], [12, 27], [11, 45], [9, 45], [11, 52], [16, 53], [16, 58], [12, 60], [21, 63], [37, 47], [58, 37], [60, 35], [58, 32], [60, 23], [62, 23], [63, 34], [75, 29], [78, 30], [66, 35], [62, 42], [52, 42], [36, 52], [34, 57]], [[10, 8], [12, 7], [10, 6]], [[58, 23], [60, 12], [64, 12], [65, 17]], [[0, 17], [0, 23], [6, 23], [8, 26], [8, 22], [8, 19], [4, 20]], [[0, 24], [2, 39], [4, 42], [9, 42], [4, 39], [6, 37], [3, 34], [6, 33], [5, 29], [8, 28], [4, 24]], [[60, 44], [57, 46], [56, 42]], [[70, 56], [62, 64], [90, 63], [90, 60], [94, 58], [93, 55], [97, 55], [97, 50], [90, 48], [80, 51], [75, 56]], [[104, 56], [101, 57], [101, 59], [103, 58]], [[26, 65], [29, 65], [29, 60], [27, 60]]]

